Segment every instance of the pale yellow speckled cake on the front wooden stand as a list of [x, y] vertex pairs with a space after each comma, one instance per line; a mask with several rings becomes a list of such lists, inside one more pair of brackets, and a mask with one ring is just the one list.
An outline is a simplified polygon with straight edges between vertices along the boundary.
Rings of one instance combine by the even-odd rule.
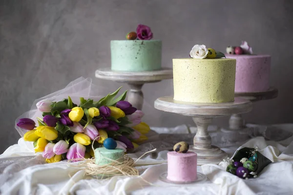
[[234, 101], [235, 69], [235, 59], [173, 59], [174, 99]]

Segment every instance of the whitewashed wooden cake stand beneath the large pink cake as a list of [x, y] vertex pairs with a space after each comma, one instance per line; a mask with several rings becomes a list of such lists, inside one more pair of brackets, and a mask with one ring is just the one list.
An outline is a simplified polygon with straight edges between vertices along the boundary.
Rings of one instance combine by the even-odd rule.
[[[278, 90], [274, 87], [271, 87], [268, 91], [265, 91], [265, 92], [251, 92], [251, 93], [235, 92], [235, 97], [244, 98], [244, 99], [250, 100], [251, 102], [256, 102], [256, 101], [273, 99], [278, 97]], [[246, 126], [244, 124], [244, 120], [241, 114], [233, 114], [231, 115], [229, 119], [229, 129], [222, 128], [221, 131], [224, 133], [232, 133], [237, 130], [238, 131], [240, 130], [238, 133], [242, 134], [241, 130], [245, 128]]]

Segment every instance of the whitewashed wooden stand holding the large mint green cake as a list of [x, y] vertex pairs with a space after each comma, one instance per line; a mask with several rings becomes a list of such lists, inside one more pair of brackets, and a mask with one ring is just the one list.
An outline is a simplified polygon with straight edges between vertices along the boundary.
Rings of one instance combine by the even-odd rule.
[[159, 82], [164, 79], [173, 78], [173, 69], [162, 68], [156, 71], [145, 72], [123, 72], [113, 71], [110, 68], [96, 70], [96, 78], [113, 80], [116, 82], [127, 83], [130, 91], [127, 94], [127, 101], [138, 110], [142, 110], [144, 94], [142, 87], [145, 83]]

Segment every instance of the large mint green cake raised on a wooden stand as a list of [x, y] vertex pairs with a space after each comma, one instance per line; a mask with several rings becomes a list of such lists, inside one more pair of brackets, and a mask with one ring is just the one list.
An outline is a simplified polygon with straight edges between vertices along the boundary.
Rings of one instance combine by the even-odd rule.
[[160, 70], [161, 40], [111, 40], [111, 69], [114, 71]]

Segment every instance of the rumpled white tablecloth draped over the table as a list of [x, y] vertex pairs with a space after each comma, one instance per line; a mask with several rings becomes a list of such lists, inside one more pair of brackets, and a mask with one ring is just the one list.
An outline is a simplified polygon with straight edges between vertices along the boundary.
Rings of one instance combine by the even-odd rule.
[[[293, 124], [281, 125], [293, 132]], [[184, 126], [154, 128], [160, 133], [187, 133]], [[231, 157], [240, 145], [222, 148]], [[42, 164], [42, 157], [35, 155], [22, 138], [0, 155], [0, 191], [5, 195], [275, 195], [293, 194], [293, 137], [275, 142], [255, 137], [243, 146], [258, 146], [261, 153], [273, 163], [253, 179], [243, 180], [223, 170], [222, 166], [198, 166], [198, 172], [208, 176], [206, 181], [176, 185], [159, 179], [167, 172], [167, 152], [146, 156], [138, 161], [138, 169], [145, 169], [139, 177], [116, 176], [98, 180], [85, 176], [84, 171], [67, 162]], [[12, 156], [22, 156], [11, 158]], [[138, 154], [130, 154], [137, 158]], [[11, 162], [14, 162], [11, 164]], [[76, 162], [78, 163], [78, 162]], [[0, 172], [0, 173], [1, 173]]]

